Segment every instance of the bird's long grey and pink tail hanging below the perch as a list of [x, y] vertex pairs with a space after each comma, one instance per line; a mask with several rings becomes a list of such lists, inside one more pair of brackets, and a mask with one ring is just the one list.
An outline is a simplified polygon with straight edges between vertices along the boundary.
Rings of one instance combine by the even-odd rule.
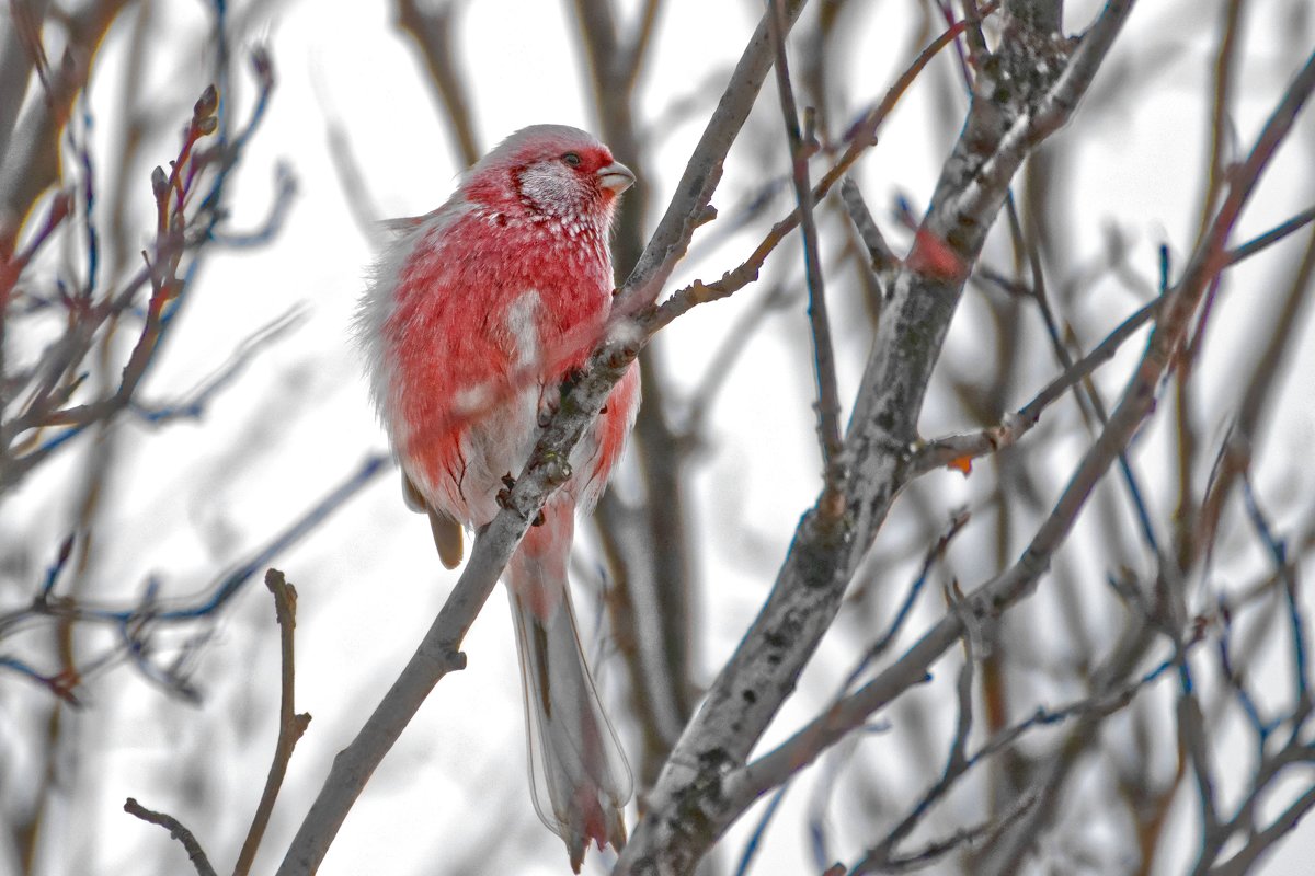
[[567, 843], [580, 872], [589, 842], [626, 842], [622, 810], [631, 777], [594, 691], [567, 586], [575, 510], [544, 508], [508, 563], [506, 583], [521, 654], [530, 781], [539, 818]]

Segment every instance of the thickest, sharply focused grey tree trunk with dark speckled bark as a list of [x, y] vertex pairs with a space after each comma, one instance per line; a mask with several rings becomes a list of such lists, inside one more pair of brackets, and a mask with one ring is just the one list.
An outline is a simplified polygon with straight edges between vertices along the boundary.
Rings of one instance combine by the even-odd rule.
[[[923, 221], [926, 234], [905, 260], [877, 330], [846, 437], [853, 471], [846, 496], [847, 514], [832, 520], [814, 507], [803, 516], [767, 604], [686, 726], [648, 796], [648, 810], [621, 856], [618, 876], [692, 869], [743, 812], [727, 800], [726, 777], [744, 763], [793, 690], [831, 625], [853, 570], [907, 479], [909, 445], [917, 435], [931, 369], [967, 269], [1005, 200], [1009, 179], [1030, 148], [1072, 114], [1130, 7], [1130, 3], [1106, 7], [1059, 81], [1038, 99], [1035, 113], [1015, 108], [1019, 110], [1015, 121], [1002, 125], [999, 108], [992, 102], [995, 89], [989, 77], [980, 77], [972, 118]], [[982, 169], [974, 173], [972, 167]], [[842, 173], [836, 172], [836, 179]], [[823, 177], [822, 184], [826, 183]], [[948, 250], [956, 269], [938, 271], [938, 261], [943, 260], [928, 257], [934, 248]], [[956, 620], [943, 621], [913, 653], [931, 661], [960, 632]], [[899, 676], [899, 690], [920, 682], [927, 665], [920, 659], [901, 661], [898, 666], [907, 671]]]

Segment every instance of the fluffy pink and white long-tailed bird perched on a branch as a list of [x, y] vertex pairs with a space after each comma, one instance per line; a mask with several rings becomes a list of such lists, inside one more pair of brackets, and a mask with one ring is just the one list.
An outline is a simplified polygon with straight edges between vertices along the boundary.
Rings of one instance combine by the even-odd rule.
[[[635, 181], [584, 131], [512, 134], [438, 210], [401, 225], [376, 265], [356, 327], [371, 393], [412, 510], [439, 558], [462, 559], [462, 527], [498, 511], [559, 387], [600, 340], [611, 309], [608, 234]], [[575, 512], [608, 481], [639, 406], [631, 366], [569, 457], [571, 479], [506, 567], [539, 818], [580, 872], [589, 842], [619, 848], [630, 768], [584, 662], [567, 584]]]

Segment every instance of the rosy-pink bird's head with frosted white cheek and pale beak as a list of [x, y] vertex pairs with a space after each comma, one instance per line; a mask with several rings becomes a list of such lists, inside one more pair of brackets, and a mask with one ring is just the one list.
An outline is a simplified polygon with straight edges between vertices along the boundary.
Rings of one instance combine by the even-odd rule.
[[592, 135], [565, 125], [512, 134], [471, 168], [466, 197], [498, 209], [605, 225], [617, 196], [635, 181]]

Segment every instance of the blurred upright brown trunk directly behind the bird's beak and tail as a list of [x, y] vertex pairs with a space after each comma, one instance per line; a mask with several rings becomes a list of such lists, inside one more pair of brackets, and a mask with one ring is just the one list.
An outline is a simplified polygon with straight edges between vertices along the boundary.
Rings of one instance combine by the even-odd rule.
[[[611, 0], [576, 0], [575, 18], [586, 62], [601, 135], [613, 154], [648, 179], [651, 138], [635, 120], [635, 85], [652, 41], [660, 0], [648, 0], [627, 34]], [[644, 248], [646, 215], [652, 186], [626, 193], [613, 238], [618, 276], [634, 268]], [[671, 380], [660, 351], [639, 353], [640, 395], [631, 454], [648, 500], [633, 506], [604, 496], [593, 521], [608, 553], [613, 586], [609, 617], [626, 659], [634, 691], [636, 724], [643, 728], [639, 788], [652, 783], [672, 742], [693, 708], [689, 605], [698, 582], [690, 561], [686, 520], [686, 445], [673, 433], [668, 399]], [[652, 498], [660, 496], [660, 500]], [[654, 545], [661, 545], [655, 550]]]

